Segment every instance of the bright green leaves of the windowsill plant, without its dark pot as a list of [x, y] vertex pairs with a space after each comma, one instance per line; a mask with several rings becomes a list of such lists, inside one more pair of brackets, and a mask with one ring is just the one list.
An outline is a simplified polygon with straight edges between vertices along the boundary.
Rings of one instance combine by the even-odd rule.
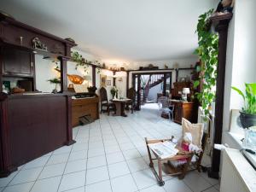
[[244, 107], [241, 108], [242, 112], [248, 113], [248, 114], [256, 114], [256, 83], [253, 84], [245, 84], [246, 90], [245, 94], [238, 88], [232, 86], [231, 88], [233, 90], [236, 90], [236, 92], [241, 95]]

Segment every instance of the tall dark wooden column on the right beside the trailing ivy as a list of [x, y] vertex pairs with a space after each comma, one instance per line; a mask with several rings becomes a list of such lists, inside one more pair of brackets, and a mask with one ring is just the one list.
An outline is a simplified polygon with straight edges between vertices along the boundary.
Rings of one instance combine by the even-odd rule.
[[[211, 18], [215, 30], [218, 32], [218, 68], [217, 68], [217, 84], [216, 84], [216, 107], [214, 119], [214, 143], [222, 143], [223, 132], [223, 111], [224, 111], [224, 82], [225, 82], [225, 66], [226, 66], [226, 49], [228, 38], [228, 26], [232, 14], [214, 16]], [[212, 167], [208, 172], [209, 177], [218, 178], [220, 164], [220, 151], [213, 149], [212, 152]]]

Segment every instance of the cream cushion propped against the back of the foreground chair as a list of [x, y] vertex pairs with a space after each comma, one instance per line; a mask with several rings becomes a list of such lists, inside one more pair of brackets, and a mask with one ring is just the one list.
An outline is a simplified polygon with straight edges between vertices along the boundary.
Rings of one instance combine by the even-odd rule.
[[[192, 143], [201, 148], [201, 139], [204, 134], [203, 124], [192, 124], [187, 119], [182, 119], [183, 136], [185, 132], [189, 132], [192, 135]], [[182, 137], [183, 138], [183, 137]]]

